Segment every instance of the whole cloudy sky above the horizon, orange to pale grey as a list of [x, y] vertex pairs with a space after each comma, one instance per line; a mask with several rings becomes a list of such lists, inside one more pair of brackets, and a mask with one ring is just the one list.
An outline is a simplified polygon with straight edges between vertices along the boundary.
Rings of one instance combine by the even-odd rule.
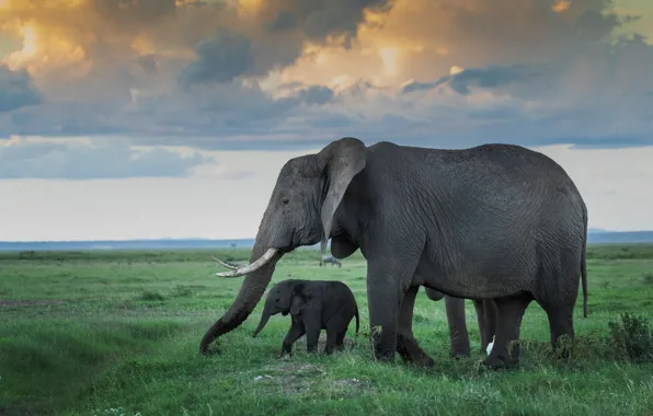
[[253, 238], [282, 165], [543, 152], [653, 230], [653, 1], [0, 0], [0, 241]]

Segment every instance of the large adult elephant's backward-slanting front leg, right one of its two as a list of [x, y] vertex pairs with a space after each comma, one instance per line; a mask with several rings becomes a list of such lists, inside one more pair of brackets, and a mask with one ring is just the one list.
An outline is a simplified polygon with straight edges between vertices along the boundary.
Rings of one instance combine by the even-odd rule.
[[397, 353], [399, 353], [399, 356], [404, 362], [412, 362], [419, 367], [433, 367], [435, 361], [424, 353], [413, 336], [413, 310], [419, 290], [419, 286], [409, 288], [401, 302]]

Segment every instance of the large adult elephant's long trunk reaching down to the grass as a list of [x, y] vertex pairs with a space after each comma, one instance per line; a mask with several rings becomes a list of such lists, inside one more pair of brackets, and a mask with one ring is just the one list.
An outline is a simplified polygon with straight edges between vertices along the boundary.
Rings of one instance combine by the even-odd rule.
[[[254, 244], [254, 250], [250, 256], [250, 264], [261, 258], [268, 249], [274, 249], [268, 245], [271, 239], [268, 238], [267, 229], [264, 226], [266, 223], [265, 217], [256, 235], [256, 243]], [[202, 354], [207, 353], [208, 345], [216, 338], [237, 328], [248, 319], [254, 308], [256, 308], [263, 292], [265, 292], [265, 288], [267, 287], [267, 284], [270, 284], [272, 274], [274, 273], [276, 262], [282, 256], [283, 253], [277, 252], [268, 262], [244, 278], [240, 291], [231, 307], [229, 307], [225, 315], [213, 324], [206, 334], [204, 334], [204, 337], [199, 343], [199, 351]]]

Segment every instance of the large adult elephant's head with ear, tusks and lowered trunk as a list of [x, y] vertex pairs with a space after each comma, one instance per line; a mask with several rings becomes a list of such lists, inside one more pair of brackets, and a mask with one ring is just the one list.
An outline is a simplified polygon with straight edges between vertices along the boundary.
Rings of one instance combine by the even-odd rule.
[[365, 145], [355, 138], [333, 141], [319, 153], [286, 162], [259, 226], [250, 264], [216, 274], [247, 277], [229, 310], [204, 335], [202, 353], [214, 339], [248, 319], [285, 253], [320, 241], [322, 254], [325, 253], [333, 215], [351, 181], [366, 163]]

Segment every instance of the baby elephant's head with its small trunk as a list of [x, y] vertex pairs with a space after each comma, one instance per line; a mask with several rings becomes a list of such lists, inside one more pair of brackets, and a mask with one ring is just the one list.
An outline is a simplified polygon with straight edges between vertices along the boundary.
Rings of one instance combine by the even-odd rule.
[[280, 313], [286, 316], [290, 313], [296, 316], [299, 314], [307, 307], [310, 297], [310, 290], [299, 280], [284, 280], [273, 286], [265, 299], [261, 322], [253, 336], [259, 335], [272, 315]]

